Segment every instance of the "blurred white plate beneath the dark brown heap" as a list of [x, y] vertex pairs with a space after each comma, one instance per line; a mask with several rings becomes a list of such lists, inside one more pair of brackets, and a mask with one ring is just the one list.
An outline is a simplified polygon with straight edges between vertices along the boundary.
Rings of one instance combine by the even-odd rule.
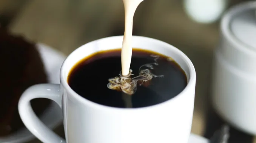
[[[60, 83], [60, 67], [66, 56], [59, 51], [53, 50], [52, 48], [43, 44], [38, 44], [37, 47], [42, 56], [49, 83]], [[60, 107], [52, 101], [40, 119], [49, 128], [55, 128], [62, 123], [62, 111]], [[0, 143], [23, 143], [34, 138], [34, 135], [32, 135], [28, 129], [22, 128], [8, 137], [0, 138]]]

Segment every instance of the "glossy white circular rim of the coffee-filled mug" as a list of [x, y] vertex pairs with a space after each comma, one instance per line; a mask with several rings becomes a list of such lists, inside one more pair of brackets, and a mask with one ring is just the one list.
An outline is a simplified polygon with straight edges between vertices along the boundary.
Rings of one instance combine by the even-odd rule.
[[[84, 45], [81, 45], [79, 48], [72, 51], [72, 53], [76, 52], [80, 48], [86, 48], [86, 45], [89, 45], [91, 43], [95, 43], [95, 42], [99, 42], [99, 41], [103, 41], [103, 40], [108, 40], [110, 38], [122, 38], [123, 39], [123, 36], [111, 36], [111, 37], [97, 39], [97, 40], [88, 42]], [[68, 85], [67, 79], [65, 79], [65, 71], [64, 71], [65, 68], [64, 68], [64, 66], [65, 66], [66, 61], [69, 60], [69, 57], [72, 54], [72, 53], [70, 53], [69, 56], [66, 57], [65, 61], [63, 62], [62, 66], [61, 66], [61, 69], [60, 69], [60, 85], [62, 85], [64, 87], [64, 89], [67, 90], [67, 92], [69, 93], [68, 96], [71, 96], [73, 99], [75, 99], [78, 102], [82, 102], [82, 104], [86, 104], [88, 106], [91, 106], [92, 108], [98, 108], [99, 110], [106, 110], [106, 111], [120, 111], [120, 110], [122, 110], [122, 111], [124, 111], [124, 110], [125, 111], [141, 111], [141, 110], [148, 110], [149, 108], [157, 108], [157, 107], [160, 107], [160, 106], [164, 106], [165, 104], [170, 104], [170, 102], [174, 102], [175, 100], [179, 100], [180, 98], [182, 98], [182, 95], [186, 94], [189, 89], [193, 88], [193, 84], [196, 82], [196, 71], [195, 71], [193, 63], [187, 57], [186, 54], [184, 54], [182, 51], [180, 51], [178, 48], [174, 47], [173, 45], [170, 45], [166, 42], [163, 42], [163, 41], [160, 41], [160, 40], [157, 40], [157, 39], [148, 38], [148, 37], [145, 37], [145, 36], [134, 36], [134, 35], [133, 35], [133, 38], [146, 39], [146, 40], [149, 40], [149, 41], [157, 42], [157, 44], [164, 44], [165, 48], [167, 48], [169, 51], [170, 50], [176, 51], [176, 54], [178, 54], [179, 57], [182, 58], [185, 61], [185, 64], [189, 69], [188, 84], [178, 95], [174, 96], [171, 99], [168, 99], [167, 101], [161, 102], [159, 104], [150, 105], [150, 106], [147, 106], [147, 107], [139, 107], [139, 108], [118, 108], [118, 107], [110, 107], [110, 106], [106, 106], [106, 105], [97, 104], [93, 101], [90, 101], [86, 98], [83, 98], [82, 96], [77, 94], [73, 89], [71, 89], [71, 87]], [[157, 53], [160, 53], [160, 52], [157, 52]], [[162, 54], [162, 53], [160, 53], [160, 54]]]

